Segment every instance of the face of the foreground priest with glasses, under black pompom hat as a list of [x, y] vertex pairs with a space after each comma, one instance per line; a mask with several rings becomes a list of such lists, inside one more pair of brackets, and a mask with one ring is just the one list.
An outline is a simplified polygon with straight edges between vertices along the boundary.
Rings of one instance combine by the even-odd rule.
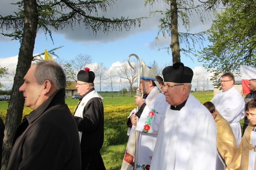
[[[163, 87], [162, 92], [165, 93], [165, 100], [167, 103], [173, 106], [177, 106], [182, 103], [182, 90], [184, 85], [178, 85], [181, 83], [172, 83], [172, 82], [165, 82], [165, 87]], [[176, 85], [170, 86], [168, 85]], [[178, 85], [178, 86], [177, 86]]]

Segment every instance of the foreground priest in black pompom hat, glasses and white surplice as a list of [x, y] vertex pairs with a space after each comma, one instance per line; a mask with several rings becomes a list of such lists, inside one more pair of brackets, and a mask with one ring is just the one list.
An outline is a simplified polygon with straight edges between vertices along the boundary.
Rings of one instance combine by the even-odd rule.
[[189, 94], [193, 71], [177, 62], [162, 74], [163, 92], [171, 106], [159, 129], [150, 169], [215, 170], [216, 123], [208, 109]]

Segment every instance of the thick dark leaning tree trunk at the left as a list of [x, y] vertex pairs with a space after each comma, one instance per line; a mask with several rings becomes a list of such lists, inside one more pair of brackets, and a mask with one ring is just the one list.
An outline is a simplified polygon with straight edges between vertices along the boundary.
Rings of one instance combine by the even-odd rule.
[[19, 87], [22, 85], [23, 78], [30, 68], [31, 62], [33, 60], [33, 50], [38, 25], [36, 0], [24, 0], [24, 14], [25, 22], [22, 35], [22, 43], [19, 49], [18, 64], [14, 77], [11, 100], [8, 106], [5, 120], [2, 170], [7, 169], [12, 150], [13, 136], [17, 126], [22, 119], [25, 100], [23, 93], [19, 91]]

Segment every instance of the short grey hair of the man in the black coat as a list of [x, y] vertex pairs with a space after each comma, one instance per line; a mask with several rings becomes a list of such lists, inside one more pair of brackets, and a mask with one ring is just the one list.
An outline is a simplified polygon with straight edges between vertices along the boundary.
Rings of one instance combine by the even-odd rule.
[[37, 84], [41, 85], [45, 80], [49, 80], [56, 91], [67, 87], [65, 72], [55, 61], [43, 60], [36, 65], [34, 76]]

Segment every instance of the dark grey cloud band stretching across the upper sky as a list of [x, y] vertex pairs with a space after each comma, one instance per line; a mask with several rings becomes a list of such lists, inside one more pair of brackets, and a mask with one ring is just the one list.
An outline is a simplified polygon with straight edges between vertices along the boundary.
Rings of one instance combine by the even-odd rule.
[[[18, 0], [13, 0], [12, 2], [16, 2]], [[129, 37], [130, 35], [136, 35], [144, 32], [149, 32], [152, 30], [158, 30], [159, 25], [159, 19], [163, 17], [160, 13], [156, 13], [155, 15], [150, 16], [150, 11], [154, 10], [164, 10], [166, 5], [160, 2], [156, 2], [154, 7], [150, 9], [150, 7], [144, 6], [144, 1], [140, 0], [126, 0], [126, 1], [116, 1], [116, 5], [113, 5], [113, 7], [108, 9], [108, 12], [106, 12], [105, 17], [106, 18], [120, 18], [120, 17], [129, 17], [129, 19], [135, 19], [139, 17], [148, 17], [147, 19], [141, 20], [141, 27], [138, 26], [134, 28], [133, 26], [129, 31], [126, 31], [126, 29], [123, 29], [122, 31], [110, 31], [109, 33], [104, 34], [102, 31], [97, 32], [96, 35], [93, 34], [90, 30], [85, 30], [85, 27], [83, 24], [80, 26], [76, 24], [75, 27], [70, 28], [67, 25], [67, 28], [63, 28], [59, 30], [57, 33], [52, 30], [52, 32], [55, 34], [62, 34], [65, 36], [65, 39], [73, 41], [73, 42], [83, 42], [85, 44], [91, 44], [91, 43], [108, 43], [113, 42], [116, 40], [121, 40], [124, 38]], [[18, 6], [17, 5], [11, 5], [10, 0], [1, 0], [1, 15], [15, 15], [13, 12], [17, 11]], [[99, 12], [99, 16], [101, 16], [101, 12]], [[184, 27], [182, 24], [182, 21], [179, 20], [181, 28], [179, 28], [180, 32], [184, 32]], [[211, 20], [205, 21], [205, 24], [200, 23], [200, 20], [198, 18], [192, 18], [191, 19], [191, 32], [196, 33], [200, 31], [205, 31], [210, 28], [212, 24]], [[74, 24], [73, 24], [74, 25]], [[42, 30], [38, 31], [38, 34], [43, 34]], [[6, 38], [1, 36], [1, 41], [10, 41], [10, 38]], [[153, 42], [152, 42], [153, 43]], [[158, 46], [162, 47], [162, 42], [158, 41], [157, 43], [161, 43]], [[155, 44], [155, 43], [154, 43]], [[152, 45], [154, 45], [152, 44]], [[164, 43], [166, 44], [166, 43]], [[154, 47], [154, 46], [152, 46]]]

